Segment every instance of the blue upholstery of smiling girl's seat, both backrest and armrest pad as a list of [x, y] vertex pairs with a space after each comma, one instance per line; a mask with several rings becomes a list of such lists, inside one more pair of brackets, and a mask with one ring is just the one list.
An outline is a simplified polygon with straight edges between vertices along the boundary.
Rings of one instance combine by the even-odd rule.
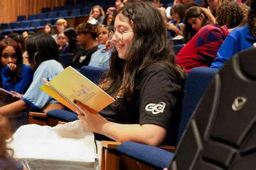
[[[217, 72], [218, 69], [196, 67], [188, 73], [177, 141], [180, 140], [194, 108]], [[173, 157], [171, 152], [136, 142], [123, 142], [117, 147], [117, 151], [145, 165], [158, 169], [168, 167]]]

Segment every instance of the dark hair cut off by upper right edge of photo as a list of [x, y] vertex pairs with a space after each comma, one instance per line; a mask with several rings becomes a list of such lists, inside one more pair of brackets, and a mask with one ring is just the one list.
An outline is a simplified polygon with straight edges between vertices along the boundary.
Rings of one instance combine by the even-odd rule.
[[251, 35], [256, 38], [256, 26], [254, 22], [254, 18], [256, 18], [256, 1], [251, 0], [251, 7], [250, 11], [248, 13], [248, 28], [251, 32]]

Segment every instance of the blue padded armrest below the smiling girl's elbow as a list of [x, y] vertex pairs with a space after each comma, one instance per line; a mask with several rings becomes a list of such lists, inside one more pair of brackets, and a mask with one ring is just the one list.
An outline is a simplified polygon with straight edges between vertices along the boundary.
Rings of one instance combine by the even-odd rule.
[[[173, 153], [165, 151], [164, 149], [131, 141], [123, 142], [122, 145], [117, 147], [117, 151], [122, 151], [122, 154], [132, 159], [138, 160], [139, 158], [139, 162], [155, 169], [168, 167], [173, 157]], [[158, 155], [160, 155], [160, 157], [158, 157]]]

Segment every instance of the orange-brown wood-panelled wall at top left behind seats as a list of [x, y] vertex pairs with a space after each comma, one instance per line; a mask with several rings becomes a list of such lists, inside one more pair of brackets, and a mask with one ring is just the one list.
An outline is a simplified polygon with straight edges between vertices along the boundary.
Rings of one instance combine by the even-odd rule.
[[17, 21], [18, 15], [40, 13], [42, 8], [63, 6], [65, 0], [0, 0], [0, 23]]

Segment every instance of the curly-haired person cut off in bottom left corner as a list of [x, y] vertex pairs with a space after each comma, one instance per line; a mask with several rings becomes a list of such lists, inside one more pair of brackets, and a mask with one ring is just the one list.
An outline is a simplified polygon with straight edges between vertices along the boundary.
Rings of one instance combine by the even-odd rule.
[[14, 152], [6, 146], [6, 140], [11, 138], [11, 135], [9, 120], [0, 115], [0, 169], [25, 170], [23, 165], [9, 154], [9, 151]]

